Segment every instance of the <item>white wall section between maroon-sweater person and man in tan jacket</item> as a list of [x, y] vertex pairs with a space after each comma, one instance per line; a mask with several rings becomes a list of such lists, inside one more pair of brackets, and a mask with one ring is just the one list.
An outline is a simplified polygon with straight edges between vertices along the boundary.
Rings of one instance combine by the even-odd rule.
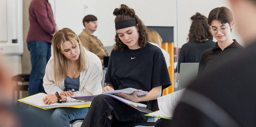
[[49, 0], [55, 22], [59, 29], [72, 29], [76, 34], [84, 28], [82, 20], [85, 15], [96, 15], [96, 1], [92, 0]]

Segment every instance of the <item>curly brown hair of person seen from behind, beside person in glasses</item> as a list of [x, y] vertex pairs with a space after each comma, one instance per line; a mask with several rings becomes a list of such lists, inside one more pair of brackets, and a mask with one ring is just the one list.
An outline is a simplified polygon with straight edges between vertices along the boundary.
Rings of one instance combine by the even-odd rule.
[[200, 13], [196, 13], [191, 18], [191, 26], [189, 30], [188, 41], [202, 41], [205, 39], [213, 39], [212, 33], [209, 31], [210, 26], [207, 23], [207, 18]]

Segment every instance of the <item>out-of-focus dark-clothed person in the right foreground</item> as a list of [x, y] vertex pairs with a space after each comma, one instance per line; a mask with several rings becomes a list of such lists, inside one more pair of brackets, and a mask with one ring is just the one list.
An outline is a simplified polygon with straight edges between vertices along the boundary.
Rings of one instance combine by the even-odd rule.
[[[234, 50], [231, 53], [237, 55], [229, 56], [190, 84], [175, 109], [175, 127], [256, 126], [256, 1], [227, 1], [246, 48]], [[230, 31], [227, 23], [222, 25]], [[223, 27], [216, 27], [217, 33], [225, 32]]]

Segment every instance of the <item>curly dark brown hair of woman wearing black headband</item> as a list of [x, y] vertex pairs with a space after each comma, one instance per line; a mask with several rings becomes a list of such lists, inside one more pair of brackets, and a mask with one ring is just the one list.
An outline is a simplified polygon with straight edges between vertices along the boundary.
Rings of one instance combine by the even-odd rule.
[[[138, 26], [135, 26], [135, 27], [138, 27], [138, 29], [139, 29], [138, 44], [140, 47], [146, 46], [146, 44], [148, 43], [147, 27], [140, 20], [140, 18], [137, 15], [135, 15], [135, 11], [133, 9], [129, 8], [127, 5], [121, 4], [120, 8], [116, 8], [114, 10], [113, 15], [116, 16], [115, 22], [135, 19], [138, 23]], [[113, 45], [113, 49], [114, 50], [123, 50], [126, 45], [120, 44], [119, 42], [122, 43], [122, 41], [119, 39], [119, 42], [118, 42], [117, 39], [118, 39], [118, 34], [116, 33], [115, 44]]]

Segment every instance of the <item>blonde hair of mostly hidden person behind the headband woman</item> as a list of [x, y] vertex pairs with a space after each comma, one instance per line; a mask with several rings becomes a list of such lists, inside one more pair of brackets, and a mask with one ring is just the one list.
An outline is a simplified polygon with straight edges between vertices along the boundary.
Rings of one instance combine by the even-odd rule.
[[158, 34], [158, 32], [153, 29], [148, 29], [147, 32], [148, 32], [149, 42], [156, 43], [159, 45], [159, 47], [161, 47], [163, 40], [162, 40], [161, 36]]

